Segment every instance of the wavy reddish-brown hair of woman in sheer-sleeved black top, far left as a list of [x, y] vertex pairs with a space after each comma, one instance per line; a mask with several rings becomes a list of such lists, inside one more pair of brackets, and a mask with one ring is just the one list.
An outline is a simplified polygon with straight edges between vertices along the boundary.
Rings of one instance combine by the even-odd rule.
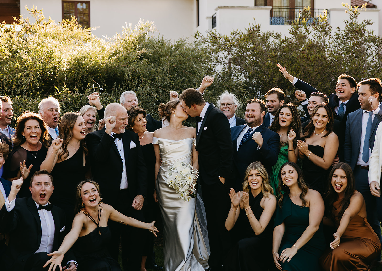
[[34, 119], [39, 122], [40, 129], [41, 129], [41, 136], [40, 136], [40, 142], [42, 145], [44, 145], [46, 148], [49, 148], [49, 132], [47, 125], [45, 124], [45, 121], [40, 117], [39, 114], [25, 111], [19, 118], [17, 119], [17, 127], [15, 135], [12, 137], [13, 144], [16, 146], [20, 146], [25, 142], [25, 137], [23, 137], [22, 132], [24, 132], [25, 129], [25, 122]]

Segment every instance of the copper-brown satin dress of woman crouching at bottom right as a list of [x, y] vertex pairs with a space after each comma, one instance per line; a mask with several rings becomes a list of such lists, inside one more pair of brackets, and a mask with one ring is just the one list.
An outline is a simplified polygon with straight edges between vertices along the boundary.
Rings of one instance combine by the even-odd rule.
[[[335, 216], [340, 211], [342, 200], [333, 203]], [[336, 220], [334, 223], [338, 228], [340, 221]], [[380, 242], [376, 233], [366, 218], [355, 215], [341, 237], [340, 246], [333, 250], [327, 248], [320, 258], [320, 263], [322, 268], [328, 271], [366, 271], [369, 270], [367, 264], [377, 257], [379, 251]]]

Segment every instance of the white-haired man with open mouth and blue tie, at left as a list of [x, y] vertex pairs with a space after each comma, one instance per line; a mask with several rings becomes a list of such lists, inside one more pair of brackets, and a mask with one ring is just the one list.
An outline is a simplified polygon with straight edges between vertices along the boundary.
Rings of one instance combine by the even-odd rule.
[[58, 119], [60, 119], [60, 103], [52, 96], [42, 99], [39, 103], [39, 114], [47, 124], [52, 140], [56, 139], [58, 136]]

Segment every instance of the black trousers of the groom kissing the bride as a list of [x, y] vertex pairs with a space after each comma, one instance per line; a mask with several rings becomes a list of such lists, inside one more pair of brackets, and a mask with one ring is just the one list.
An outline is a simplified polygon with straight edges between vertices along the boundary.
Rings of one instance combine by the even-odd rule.
[[225, 180], [223, 184], [218, 178], [214, 184], [204, 184], [201, 178], [201, 183], [211, 251], [208, 263], [211, 270], [221, 270], [230, 248], [229, 233], [225, 229], [231, 206], [230, 181]]

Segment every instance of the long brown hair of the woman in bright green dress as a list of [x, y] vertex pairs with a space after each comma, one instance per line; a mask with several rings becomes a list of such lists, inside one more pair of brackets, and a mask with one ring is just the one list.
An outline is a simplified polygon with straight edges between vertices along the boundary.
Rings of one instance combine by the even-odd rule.
[[[269, 127], [269, 129], [276, 132], [276, 133], [278, 133], [280, 131], [281, 126], [280, 126], [280, 122], [278, 121], [278, 115], [280, 115], [280, 111], [283, 108], [289, 108], [289, 110], [292, 114], [292, 120], [290, 122], [290, 126], [288, 127], [288, 132], [286, 132], [286, 134], [288, 135], [291, 129], [293, 129], [293, 131], [296, 133], [296, 137], [293, 140], [293, 147], [295, 148], [297, 145], [297, 140], [299, 140], [301, 137], [301, 119], [300, 119], [300, 116], [297, 112], [296, 106], [293, 103], [287, 103], [287, 104], [283, 104], [282, 106], [280, 106], [280, 108], [277, 110], [277, 112], [275, 114], [275, 118], [273, 119], [272, 124]], [[286, 143], [280, 142], [280, 145], [282, 145], [282, 144], [285, 146], [286, 144], [288, 144], [288, 142], [286, 142]]]

